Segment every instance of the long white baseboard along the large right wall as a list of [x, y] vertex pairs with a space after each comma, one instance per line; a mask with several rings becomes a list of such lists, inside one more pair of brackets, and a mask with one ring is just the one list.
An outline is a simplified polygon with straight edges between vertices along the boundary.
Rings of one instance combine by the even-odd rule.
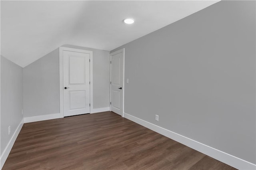
[[167, 130], [165, 128], [159, 127], [157, 125], [154, 125], [152, 123], [149, 123], [149, 122], [139, 119], [137, 117], [129, 115], [127, 113], [124, 113], [124, 118], [129, 119], [135, 123], [138, 123], [139, 125], [149, 128], [155, 132], [158, 132], [158, 133], [160, 133], [168, 138], [171, 138], [177, 142], [180, 142], [190, 148], [193, 148], [194, 150], [202, 152], [203, 154], [206, 154], [216, 160], [224, 162], [225, 164], [233, 166], [234, 168], [237, 168], [240, 170], [255, 170], [256, 169], [255, 164], [252, 164], [246, 160], [242, 160], [240, 158], [237, 158], [236, 156], [232, 156], [228, 153], [222, 152], [218, 149], [212, 148], [210, 146], [207, 146], [205, 144], [202, 144], [200, 142], [197, 142], [195, 140], [192, 140], [190, 138], [187, 138], [185, 136], [182, 136], [182, 135], [172, 132], [170, 130]]

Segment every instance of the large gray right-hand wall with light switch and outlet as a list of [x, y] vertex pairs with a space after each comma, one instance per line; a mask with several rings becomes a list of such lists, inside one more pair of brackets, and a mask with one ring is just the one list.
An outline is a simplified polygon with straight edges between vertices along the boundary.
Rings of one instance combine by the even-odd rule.
[[255, 1], [221, 1], [112, 50], [124, 112], [255, 164], [255, 19]]

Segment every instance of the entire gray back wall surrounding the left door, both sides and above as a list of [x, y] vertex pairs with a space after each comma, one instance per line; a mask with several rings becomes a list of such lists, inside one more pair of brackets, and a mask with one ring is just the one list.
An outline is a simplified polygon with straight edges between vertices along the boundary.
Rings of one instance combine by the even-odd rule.
[[[93, 108], [109, 107], [109, 51], [93, 51]], [[59, 48], [23, 68], [24, 117], [60, 113]]]

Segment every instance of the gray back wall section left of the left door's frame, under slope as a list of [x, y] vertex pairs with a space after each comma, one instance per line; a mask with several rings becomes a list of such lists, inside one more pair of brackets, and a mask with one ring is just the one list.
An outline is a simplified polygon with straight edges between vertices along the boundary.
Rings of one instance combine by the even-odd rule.
[[24, 117], [60, 113], [59, 82], [59, 48], [24, 67]]

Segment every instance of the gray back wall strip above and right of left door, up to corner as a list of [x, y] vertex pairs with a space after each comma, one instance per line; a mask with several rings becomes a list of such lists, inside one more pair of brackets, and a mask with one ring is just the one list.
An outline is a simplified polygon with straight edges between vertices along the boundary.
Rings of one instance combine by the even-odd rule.
[[84, 49], [93, 53], [93, 108], [109, 107], [110, 94], [110, 51], [80, 47], [76, 45], [62, 45], [62, 47]]

